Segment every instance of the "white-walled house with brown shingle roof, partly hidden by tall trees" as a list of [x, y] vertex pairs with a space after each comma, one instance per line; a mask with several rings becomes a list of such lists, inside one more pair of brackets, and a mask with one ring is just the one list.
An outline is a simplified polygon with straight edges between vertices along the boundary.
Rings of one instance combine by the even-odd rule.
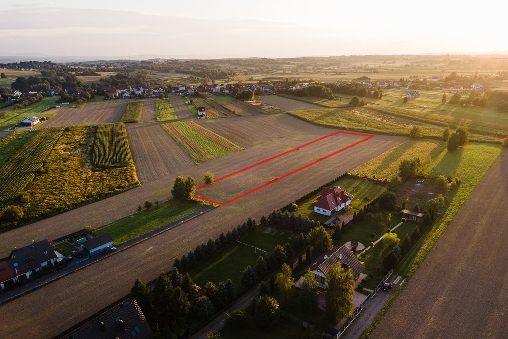
[[[358, 260], [355, 254], [347, 248], [346, 245], [342, 245], [336, 250], [331, 250], [324, 253], [322, 256], [317, 258], [309, 267], [312, 273], [314, 273], [314, 279], [317, 283], [319, 283], [321, 288], [328, 287], [326, 277], [328, 274], [330, 274], [332, 265], [337, 263], [339, 263], [345, 270], [351, 268], [351, 274], [353, 274], [356, 285], [360, 284], [358, 278], [360, 278], [360, 273], [365, 267], [362, 265], [360, 260]], [[300, 282], [303, 282], [303, 276], [300, 277]]]

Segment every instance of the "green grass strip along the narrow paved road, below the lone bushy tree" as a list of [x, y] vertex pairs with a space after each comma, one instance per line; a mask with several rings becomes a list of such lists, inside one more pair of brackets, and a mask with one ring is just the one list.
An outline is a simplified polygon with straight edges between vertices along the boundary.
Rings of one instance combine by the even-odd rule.
[[129, 217], [102, 226], [94, 230], [93, 234], [97, 236], [109, 233], [113, 237], [113, 243], [118, 245], [170, 224], [203, 207], [203, 205], [196, 202], [182, 202], [170, 199], [158, 206], [154, 205], [150, 209], [145, 209]]

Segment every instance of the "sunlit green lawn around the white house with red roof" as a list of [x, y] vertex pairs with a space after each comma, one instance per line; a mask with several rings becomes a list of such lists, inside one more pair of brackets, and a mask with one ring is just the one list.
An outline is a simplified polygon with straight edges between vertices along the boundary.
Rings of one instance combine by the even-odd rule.
[[[367, 179], [343, 177], [329, 185], [329, 187], [340, 186], [342, 189], [353, 194], [354, 198], [351, 202], [352, 209], [348, 213], [358, 212], [363, 206], [375, 197], [379, 196], [387, 190], [386, 186], [382, 186]], [[313, 212], [312, 203], [316, 200], [319, 194], [301, 202], [298, 205], [297, 213], [301, 213], [303, 217], [308, 217], [315, 222], [324, 224], [330, 217]], [[364, 199], [368, 198], [368, 199]]]

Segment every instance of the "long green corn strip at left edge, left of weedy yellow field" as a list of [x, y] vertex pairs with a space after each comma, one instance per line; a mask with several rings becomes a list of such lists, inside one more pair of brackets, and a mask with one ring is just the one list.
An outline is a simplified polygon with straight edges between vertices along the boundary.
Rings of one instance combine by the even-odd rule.
[[44, 160], [63, 130], [55, 127], [37, 133], [0, 168], [0, 212], [14, 205], [17, 194], [44, 170]]

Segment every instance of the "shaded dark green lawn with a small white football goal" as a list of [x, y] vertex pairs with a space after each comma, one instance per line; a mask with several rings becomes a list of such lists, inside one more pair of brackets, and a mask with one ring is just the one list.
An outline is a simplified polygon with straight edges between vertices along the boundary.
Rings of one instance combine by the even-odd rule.
[[280, 233], [277, 230], [275, 234], [267, 234], [264, 231], [267, 227], [258, 227], [254, 233], [248, 234], [241, 240], [242, 243], [236, 243], [228, 246], [226, 250], [210, 257], [204, 263], [190, 270], [189, 274], [193, 277], [198, 286], [205, 286], [209, 281], [217, 285], [220, 282], [231, 279], [236, 286], [236, 292], [242, 292], [240, 285], [240, 272], [247, 265], [255, 265], [261, 253], [256, 253], [258, 247], [270, 254], [277, 244], [288, 242], [289, 232]]

